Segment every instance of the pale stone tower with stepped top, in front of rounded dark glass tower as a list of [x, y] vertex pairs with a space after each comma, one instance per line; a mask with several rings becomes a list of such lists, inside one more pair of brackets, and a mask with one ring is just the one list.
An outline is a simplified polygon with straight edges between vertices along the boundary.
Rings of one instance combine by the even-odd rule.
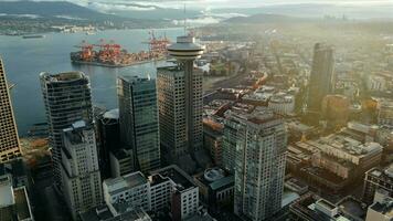
[[62, 179], [65, 202], [74, 220], [103, 201], [94, 128], [85, 122], [63, 130]]

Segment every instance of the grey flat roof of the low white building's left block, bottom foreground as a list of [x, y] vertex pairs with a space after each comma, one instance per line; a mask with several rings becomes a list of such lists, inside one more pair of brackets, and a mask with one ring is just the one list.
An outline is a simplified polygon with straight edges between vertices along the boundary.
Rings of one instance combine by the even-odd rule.
[[140, 171], [138, 171], [123, 177], [104, 180], [104, 183], [108, 187], [109, 194], [117, 194], [128, 189], [146, 185], [148, 183], [148, 180]]

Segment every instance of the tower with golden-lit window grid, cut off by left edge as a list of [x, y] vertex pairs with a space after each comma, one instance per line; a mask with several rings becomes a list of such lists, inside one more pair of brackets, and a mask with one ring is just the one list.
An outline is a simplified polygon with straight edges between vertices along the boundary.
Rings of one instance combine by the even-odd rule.
[[6, 71], [0, 59], [0, 162], [21, 155]]

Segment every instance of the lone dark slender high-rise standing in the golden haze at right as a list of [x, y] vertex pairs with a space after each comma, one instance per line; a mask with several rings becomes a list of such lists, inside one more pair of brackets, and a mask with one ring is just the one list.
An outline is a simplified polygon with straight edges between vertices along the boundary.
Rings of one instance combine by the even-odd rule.
[[314, 48], [311, 75], [308, 88], [307, 110], [319, 115], [322, 101], [334, 88], [334, 57], [333, 49], [317, 43]]

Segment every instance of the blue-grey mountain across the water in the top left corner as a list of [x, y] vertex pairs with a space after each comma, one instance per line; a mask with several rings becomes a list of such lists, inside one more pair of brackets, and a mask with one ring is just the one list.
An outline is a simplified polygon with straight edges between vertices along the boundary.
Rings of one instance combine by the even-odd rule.
[[0, 1], [0, 14], [78, 20], [119, 19], [66, 1]]

